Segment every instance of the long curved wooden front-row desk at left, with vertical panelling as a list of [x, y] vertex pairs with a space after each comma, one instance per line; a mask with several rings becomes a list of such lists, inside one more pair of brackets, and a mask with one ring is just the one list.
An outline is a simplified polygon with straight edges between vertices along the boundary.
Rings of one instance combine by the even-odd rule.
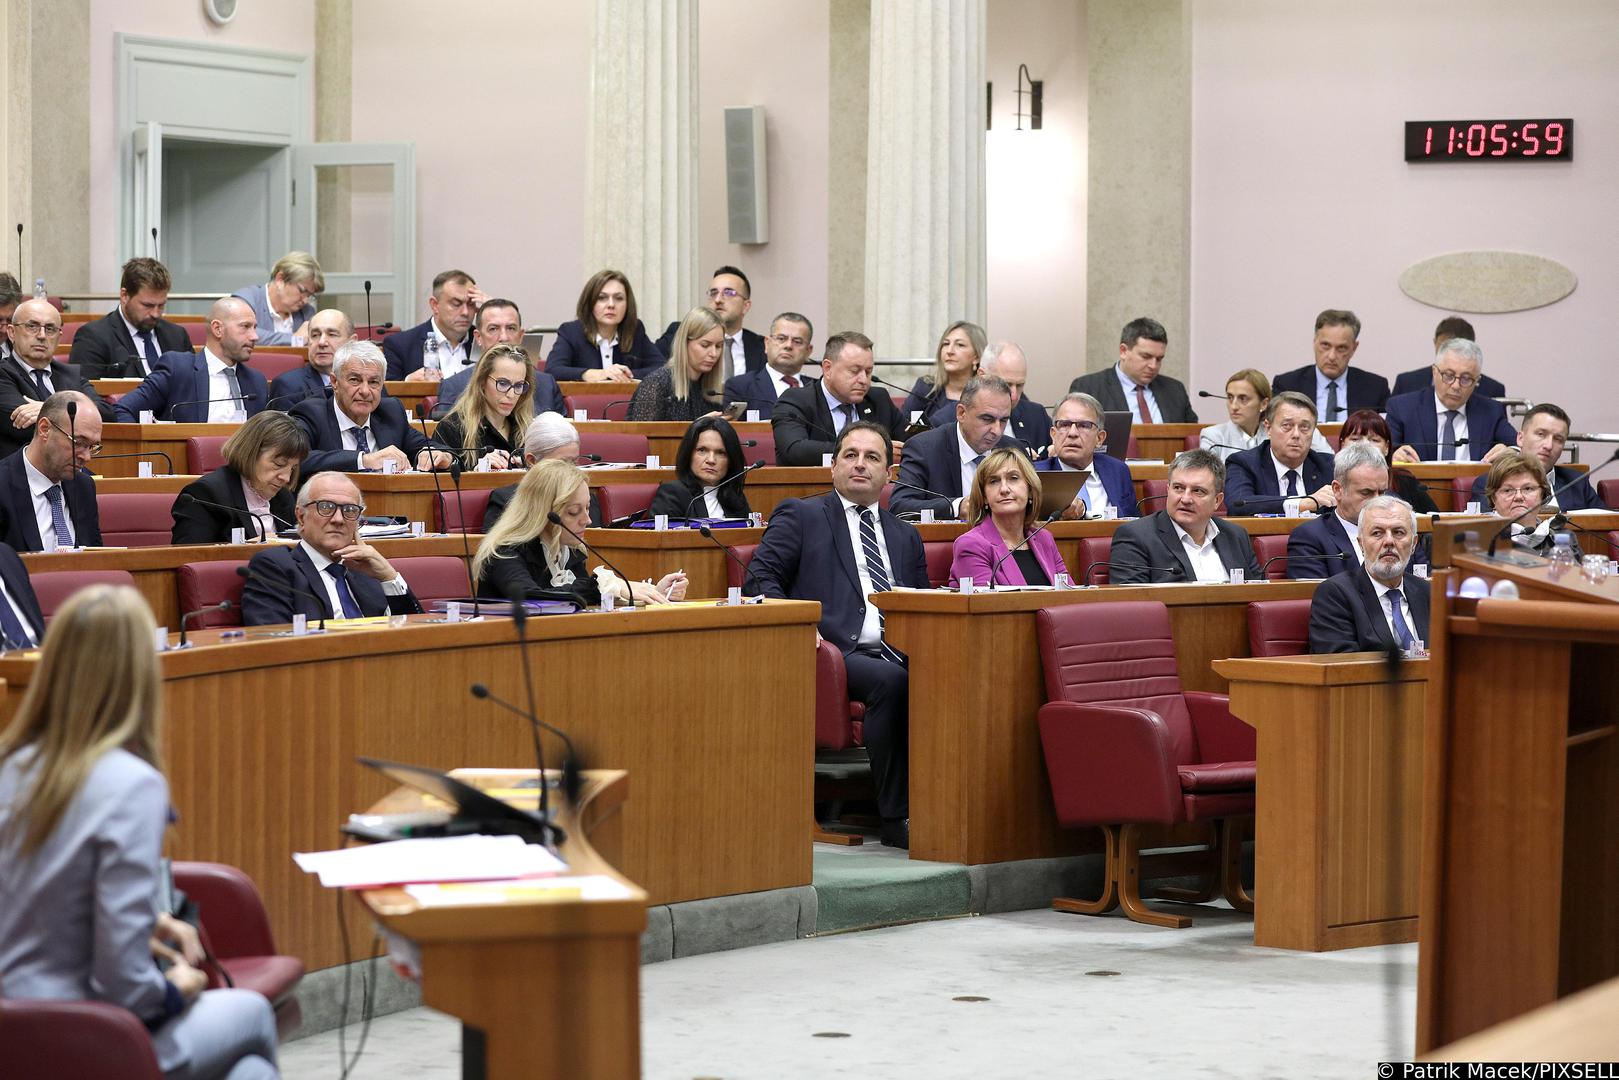
[[[615, 865], [651, 904], [810, 884], [818, 612], [777, 601], [528, 622], [539, 716], [573, 735], [586, 766], [633, 777]], [[526, 724], [466, 691], [482, 682], [525, 701], [512, 623], [405, 623], [223, 644], [202, 631], [199, 648], [162, 657], [172, 855], [246, 871], [282, 949], [311, 968], [343, 950], [330, 895], [291, 853], [335, 847], [337, 823], [390, 789], [356, 755], [439, 769], [533, 756]], [[717, 656], [774, 661], [701, 693], [693, 672]], [[34, 664], [0, 657], [6, 716]], [[364, 923], [350, 926], [364, 941]]]

